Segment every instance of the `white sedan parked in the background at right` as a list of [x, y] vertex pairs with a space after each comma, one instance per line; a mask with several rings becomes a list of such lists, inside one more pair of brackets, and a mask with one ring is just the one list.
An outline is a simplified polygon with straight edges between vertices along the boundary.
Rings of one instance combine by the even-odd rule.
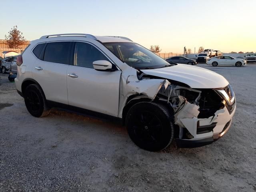
[[212, 65], [214, 67], [218, 65], [234, 65], [240, 67], [246, 65], [246, 60], [236, 59], [231, 56], [216, 56], [213, 58], [208, 58], [206, 64]]

